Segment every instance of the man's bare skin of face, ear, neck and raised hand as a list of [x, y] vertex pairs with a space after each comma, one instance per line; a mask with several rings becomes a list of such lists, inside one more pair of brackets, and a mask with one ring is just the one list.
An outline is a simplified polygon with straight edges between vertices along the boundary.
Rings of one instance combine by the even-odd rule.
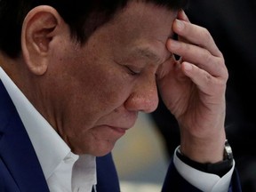
[[58, 12], [39, 6], [21, 44], [19, 59], [1, 54], [2, 67], [74, 153], [111, 151], [140, 111], [156, 109], [158, 86], [179, 121], [181, 152], [222, 160], [228, 71], [208, 31], [184, 12], [132, 2], [81, 46]]

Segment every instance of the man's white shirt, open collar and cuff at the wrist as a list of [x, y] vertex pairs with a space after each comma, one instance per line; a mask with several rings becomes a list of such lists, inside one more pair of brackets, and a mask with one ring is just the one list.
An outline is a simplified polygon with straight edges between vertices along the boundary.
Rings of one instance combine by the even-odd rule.
[[[78, 159], [78, 156], [70, 151], [67, 144], [61, 140], [57, 132], [31, 105], [1, 67], [0, 78], [26, 127], [51, 191], [69, 192], [71, 188], [72, 191], [84, 188], [79, 192], [92, 192], [92, 186], [96, 184], [95, 157], [79, 156]], [[234, 161], [232, 169], [220, 178], [218, 175], [200, 172], [188, 164], [184, 164], [176, 156], [176, 152], [173, 162], [185, 180], [205, 192], [227, 192], [235, 168]]]

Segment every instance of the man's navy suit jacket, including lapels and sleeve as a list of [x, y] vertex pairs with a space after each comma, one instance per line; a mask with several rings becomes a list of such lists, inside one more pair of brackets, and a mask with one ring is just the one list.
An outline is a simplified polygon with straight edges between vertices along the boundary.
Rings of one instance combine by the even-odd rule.
[[[111, 154], [96, 158], [97, 191], [119, 192], [119, 182]], [[236, 172], [230, 186], [239, 191]], [[0, 191], [49, 192], [36, 152], [20, 116], [0, 80]], [[163, 192], [199, 192], [176, 171], [171, 163]]]

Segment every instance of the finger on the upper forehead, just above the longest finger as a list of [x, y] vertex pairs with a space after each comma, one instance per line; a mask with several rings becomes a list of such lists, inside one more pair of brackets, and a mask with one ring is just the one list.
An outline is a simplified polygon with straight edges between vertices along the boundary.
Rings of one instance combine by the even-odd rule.
[[188, 21], [176, 19], [172, 24], [172, 29], [176, 34], [190, 42], [190, 44], [196, 44], [209, 50], [212, 55], [222, 57], [222, 53], [206, 28], [196, 26]]

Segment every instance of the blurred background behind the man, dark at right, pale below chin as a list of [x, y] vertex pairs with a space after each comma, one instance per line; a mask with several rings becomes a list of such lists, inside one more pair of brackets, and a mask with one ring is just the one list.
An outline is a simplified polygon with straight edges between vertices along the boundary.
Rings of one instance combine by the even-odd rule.
[[[192, 23], [209, 30], [223, 53], [229, 74], [227, 138], [243, 191], [256, 192], [256, 0], [193, 0], [185, 11]], [[161, 191], [166, 161], [180, 144], [179, 134], [162, 100], [155, 112], [140, 115], [114, 151], [123, 192]]]

